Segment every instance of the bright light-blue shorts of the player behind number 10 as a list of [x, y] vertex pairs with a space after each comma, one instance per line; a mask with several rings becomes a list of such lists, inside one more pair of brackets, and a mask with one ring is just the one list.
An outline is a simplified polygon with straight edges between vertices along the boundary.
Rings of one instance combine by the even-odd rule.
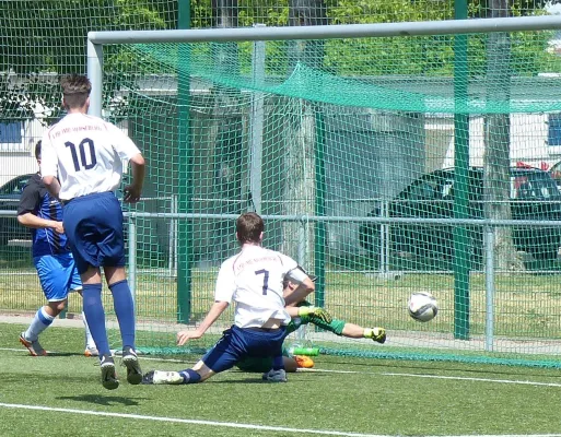
[[33, 262], [48, 302], [65, 300], [69, 292], [82, 290], [82, 281], [71, 253], [44, 255], [35, 257]]

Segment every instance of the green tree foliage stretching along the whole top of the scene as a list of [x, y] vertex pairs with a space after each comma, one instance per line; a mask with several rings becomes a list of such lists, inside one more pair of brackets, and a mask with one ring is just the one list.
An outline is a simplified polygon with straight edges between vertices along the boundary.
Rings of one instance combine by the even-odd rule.
[[[89, 31], [175, 28], [177, 1], [1, 1], [0, 116], [30, 116], [36, 111], [37, 104], [58, 104], [58, 81], [42, 82], [39, 78], [46, 73], [85, 72]], [[489, 1], [471, 0], [469, 16], [488, 16]], [[217, 25], [221, 12], [212, 5], [212, 0], [190, 0], [191, 28]], [[542, 0], [514, 0], [510, 3], [510, 14], [544, 13], [542, 5]], [[325, 20], [316, 24], [441, 21], [454, 15], [453, 0], [239, 0], [236, 2], [237, 25], [314, 24], [307, 23], [306, 17], [317, 15], [313, 9], [319, 7], [325, 9], [322, 14]], [[560, 71], [559, 58], [546, 51], [551, 36], [550, 32], [513, 33], [510, 66], [513, 74]], [[470, 35], [468, 40], [468, 73], [471, 78], [483, 76], [487, 36]], [[323, 45], [324, 59], [318, 64], [339, 75], [451, 76], [454, 66], [452, 43], [453, 36], [334, 39]], [[268, 74], [282, 76], [290, 71], [290, 44], [269, 42], [266, 47]], [[252, 50], [250, 43], [238, 44], [241, 66], [250, 66]], [[127, 80], [127, 75], [138, 72], [139, 68], [150, 68], [141, 67], [137, 58], [124, 48], [114, 46], [106, 51], [112, 56], [106, 61], [105, 71], [115, 72], [106, 83], [114, 87]], [[27, 83], [19, 81], [15, 85], [9, 79], [11, 74], [26, 78]], [[106, 95], [109, 98], [110, 87]], [[23, 113], [22, 106], [26, 108]]]

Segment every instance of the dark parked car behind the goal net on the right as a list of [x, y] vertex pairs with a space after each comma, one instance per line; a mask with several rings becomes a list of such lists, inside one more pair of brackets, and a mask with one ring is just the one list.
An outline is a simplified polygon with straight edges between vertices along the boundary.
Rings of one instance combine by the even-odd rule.
[[[483, 169], [471, 167], [468, 176], [469, 218], [483, 217]], [[512, 220], [561, 220], [561, 192], [550, 173], [538, 168], [510, 169]], [[440, 169], [421, 176], [387, 205], [389, 217], [453, 218], [454, 169]], [[370, 216], [381, 216], [375, 208]], [[361, 246], [373, 256], [381, 248], [381, 225], [365, 223], [359, 227]], [[395, 252], [420, 257], [451, 258], [454, 255], [454, 227], [448, 225], [389, 225], [389, 248]], [[470, 252], [482, 256], [481, 228], [469, 227]], [[517, 250], [537, 259], [554, 259], [561, 246], [561, 226], [514, 226]]]

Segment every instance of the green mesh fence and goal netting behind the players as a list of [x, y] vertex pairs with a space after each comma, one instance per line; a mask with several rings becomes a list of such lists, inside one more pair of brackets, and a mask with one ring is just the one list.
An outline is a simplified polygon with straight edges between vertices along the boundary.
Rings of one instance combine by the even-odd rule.
[[[25, 172], [35, 170], [28, 151], [60, 115], [58, 76], [85, 71], [87, 31], [545, 13], [539, 2], [499, 11], [486, 2], [454, 11], [451, 1], [315, 1], [304, 8], [239, 1], [235, 10], [212, 10], [210, 0], [188, 3], [187, 11], [175, 0], [3, 1], [0, 118], [26, 123], [23, 149], [0, 144], [1, 176], [21, 168], [4, 164], [8, 152], [28, 161]], [[139, 143], [151, 167], [147, 198], [129, 211], [142, 347], [185, 352], [173, 347], [178, 322], [203, 317], [218, 265], [236, 250], [233, 216], [257, 209], [268, 217], [267, 246], [318, 274], [314, 300], [340, 319], [389, 333], [379, 346], [308, 327], [290, 341], [341, 355], [556, 366], [559, 238], [558, 225], [544, 221], [558, 220], [558, 200], [542, 173], [510, 168], [551, 165], [561, 155], [556, 37], [542, 31], [267, 42], [262, 48], [106, 46], [103, 116]], [[455, 55], [458, 42], [465, 62]], [[459, 105], [458, 92], [466, 96]], [[40, 107], [26, 105], [30, 95]], [[454, 225], [454, 211], [531, 222], [492, 228], [491, 344], [484, 231]], [[372, 217], [389, 222], [367, 222]], [[404, 217], [425, 222], [399, 222]], [[11, 228], [2, 233], [13, 240]], [[28, 248], [2, 246], [0, 261], [2, 311], [36, 310], [43, 298]], [[408, 296], [419, 290], [439, 298], [440, 314], [430, 323], [406, 312]], [[109, 297], [105, 303], [110, 309]], [[80, 311], [79, 299], [70, 310]]]

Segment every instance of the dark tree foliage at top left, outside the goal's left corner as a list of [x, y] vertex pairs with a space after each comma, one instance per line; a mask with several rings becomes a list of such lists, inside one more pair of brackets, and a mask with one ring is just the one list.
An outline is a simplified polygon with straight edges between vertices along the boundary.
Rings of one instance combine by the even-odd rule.
[[175, 0], [0, 2], [0, 118], [34, 118], [47, 108], [39, 118], [50, 122], [60, 106], [59, 76], [85, 73], [87, 32], [173, 28], [170, 10]]

